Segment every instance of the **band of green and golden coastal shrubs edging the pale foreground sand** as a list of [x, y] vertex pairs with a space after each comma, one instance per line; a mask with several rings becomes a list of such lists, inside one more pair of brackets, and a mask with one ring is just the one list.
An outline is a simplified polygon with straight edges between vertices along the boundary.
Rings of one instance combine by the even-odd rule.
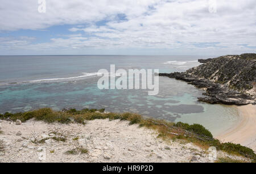
[[[250, 148], [236, 145], [234, 143], [221, 143], [217, 139], [213, 138], [209, 130], [199, 124], [189, 125], [182, 122], [175, 124], [174, 122], [156, 120], [154, 118], [144, 118], [141, 115], [134, 113], [105, 113], [104, 111], [105, 109], [82, 109], [81, 111], [77, 111], [76, 109], [63, 109], [63, 111], [53, 111], [51, 108], [42, 108], [24, 113], [0, 114], [0, 119], [10, 121], [21, 120], [22, 122], [26, 122], [31, 118], [34, 118], [38, 121], [44, 121], [47, 123], [59, 122], [61, 124], [86, 124], [86, 121], [89, 120], [107, 118], [110, 121], [127, 120], [130, 121], [130, 125], [138, 124], [141, 127], [157, 130], [159, 132], [159, 138], [174, 140], [183, 139], [184, 141], [195, 143], [202, 148], [214, 146], [217, 150], [222, 150], [230, 154], [242, 155], [246, 158], [250, 158], [253, 162], [256, 159], [254, 151]], [[65, 141], [65, 137], [61, 136], [61, 134], [56, 133], [53, 138], [55, 138], [56, 141]], [[42, 143], [46, 140], [47, 139], [42, 139], [35, 143]], [[81, 149], [72, 151], [85, 152]]]

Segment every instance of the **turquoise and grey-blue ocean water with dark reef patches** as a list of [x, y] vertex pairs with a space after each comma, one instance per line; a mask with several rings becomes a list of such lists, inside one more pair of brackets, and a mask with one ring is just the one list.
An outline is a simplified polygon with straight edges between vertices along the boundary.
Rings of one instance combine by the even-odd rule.
[[100, 90], [100, 69], [185, 71], [214, 56], [0, 56], [0, 113], [49, 107], [105, 108], [169, 121], [199, 123], [218, 135], [240, 121], [236, 107], [197, 101], [203, 90], [159, 77], [159, 94], [147, 90]]

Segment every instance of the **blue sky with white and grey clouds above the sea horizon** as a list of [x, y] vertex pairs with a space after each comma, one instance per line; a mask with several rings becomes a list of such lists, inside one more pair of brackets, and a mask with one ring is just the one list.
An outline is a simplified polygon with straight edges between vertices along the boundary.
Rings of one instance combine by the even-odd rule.
[[255, 0], [0, 1], [0, 55], [256, 50]]

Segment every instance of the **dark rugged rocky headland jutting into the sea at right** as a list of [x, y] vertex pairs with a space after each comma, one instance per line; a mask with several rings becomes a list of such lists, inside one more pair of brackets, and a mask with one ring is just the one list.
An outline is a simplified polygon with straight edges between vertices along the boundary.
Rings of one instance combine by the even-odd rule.
[[210, 104], [256, 104], [256, 54], [221, 56], [208, 60], [184, 73], [161, 73], [159, 76], [183, 80], [203, 88], [199, 101]]

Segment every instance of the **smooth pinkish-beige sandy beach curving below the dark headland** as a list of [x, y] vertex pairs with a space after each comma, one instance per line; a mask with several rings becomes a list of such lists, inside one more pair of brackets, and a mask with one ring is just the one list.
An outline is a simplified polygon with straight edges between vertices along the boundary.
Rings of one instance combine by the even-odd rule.
[[256, 106], [238, 107], [241, 121], [234, 128], [226, 130], [216, 138], [222, 142], [239, 143], [256, 151]]

